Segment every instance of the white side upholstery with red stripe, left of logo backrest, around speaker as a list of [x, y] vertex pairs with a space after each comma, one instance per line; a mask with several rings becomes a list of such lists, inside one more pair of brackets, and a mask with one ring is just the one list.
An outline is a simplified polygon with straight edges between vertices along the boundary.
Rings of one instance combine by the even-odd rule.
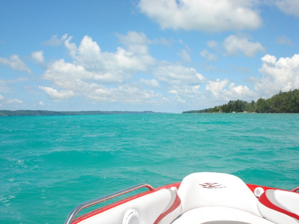
[[169, 224], [181, 213], [181, 201], [171, 189], [161, 189], [100, 214], [94, 215], [78, 224], [122, 224], [126, 211], [135, 210], [141, 224]]

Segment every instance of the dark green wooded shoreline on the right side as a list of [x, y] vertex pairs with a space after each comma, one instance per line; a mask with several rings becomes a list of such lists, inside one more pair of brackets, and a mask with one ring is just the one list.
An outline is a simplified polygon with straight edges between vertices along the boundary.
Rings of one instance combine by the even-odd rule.
[[255, 113], [299, 113], [299, 90], [290, 90], [273, 95], [269, 99], [260, 98], [257, 102], [252, 100], [230, 100], [228, 103], [206, 108], [198, 111], [184, 111], [183, 113], [231, 113], [231, 112], [255, 112]]

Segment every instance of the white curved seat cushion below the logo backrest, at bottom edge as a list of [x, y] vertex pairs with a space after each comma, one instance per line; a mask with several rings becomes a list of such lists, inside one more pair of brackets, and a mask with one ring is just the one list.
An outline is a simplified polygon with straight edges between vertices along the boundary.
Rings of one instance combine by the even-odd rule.
[[172, 224], [274, 224], [247, 211], [227, 207], [201, 207], [186, 211]]

